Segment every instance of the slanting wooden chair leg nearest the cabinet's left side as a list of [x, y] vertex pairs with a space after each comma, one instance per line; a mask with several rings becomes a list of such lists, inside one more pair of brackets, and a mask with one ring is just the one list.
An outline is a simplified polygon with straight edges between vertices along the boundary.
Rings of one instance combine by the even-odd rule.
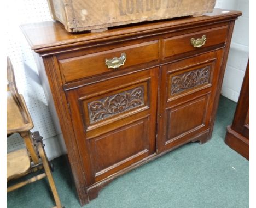
[[[42, 138], [42, 137], [40, 137], [40, 138]], [[43, 148], [42, 139], [40, 139], [40, 138], [39, 138], [39, 140], [41, 140], [41, 141], [39, 141], [39, 140], [37, 140], [37, 138], [35, 138], [37, 140], [36, 145], [37, 145], [37, 149], [38, 149], [38, 152], [39, 152], [39, 156], [42, 160], [42, 163], [43, 163], [43, 166], [44, 166], [44, 169], [45, 169], [45, 174], [48, 178], [48, 181], [49, 181], [49, 184], [50, 184], [50, 187], [51, 187], [51, 192], [53, 192], [56, 206], [57, 206], [57, 208], [62, 208], [61, 201], [60, 201], [60, 198], [59, 198], [59, 194], [57, 192], [57, 188], [56, 188], [55, 183], [54, 183], [53, 175], [51, 174], [51, 169], [50, 169], [50, 166], [49, 166], [49, 163], [48, 163], [48, 159], [46, 157], [46, 154], [45, 154], [45, 151], [44, 151], [44, 148]]]

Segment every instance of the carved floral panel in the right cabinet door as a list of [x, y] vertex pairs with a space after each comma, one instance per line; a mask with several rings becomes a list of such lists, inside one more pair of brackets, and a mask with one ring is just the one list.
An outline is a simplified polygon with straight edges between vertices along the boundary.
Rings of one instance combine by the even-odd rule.
[[181, 93], [184, 90], [209, 83], [211, 67], [188, 71], [183, 74], [172, 77], [171, 95]]

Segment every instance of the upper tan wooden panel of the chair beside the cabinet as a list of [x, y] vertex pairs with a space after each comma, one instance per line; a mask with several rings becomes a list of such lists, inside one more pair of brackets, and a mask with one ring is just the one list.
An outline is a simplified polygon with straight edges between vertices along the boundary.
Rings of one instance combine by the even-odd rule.
[[[20, 95], [20, 97], [22, 102], [24, 103], [26, 112], [28, 112], [23, 96]], [[6, 99], [7, 99], [7, 134], [9, 135], [13, 133], [31, 130], [34, 127], [31, 117], [29, 116], [28, 122], [24, 121], [20, 108], [15, 102], [14, 97], [11, 95], [10, 91], [7, 91]], [[29, 113], [27, 114], [29, 115]]]

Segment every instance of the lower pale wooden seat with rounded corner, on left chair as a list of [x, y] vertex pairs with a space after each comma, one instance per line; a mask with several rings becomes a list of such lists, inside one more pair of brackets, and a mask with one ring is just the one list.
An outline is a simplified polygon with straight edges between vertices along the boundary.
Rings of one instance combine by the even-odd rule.
[[26, 174], [30, 165], [30, 156], [27, 149], [9, 152], [7, 154], [7, 181]]

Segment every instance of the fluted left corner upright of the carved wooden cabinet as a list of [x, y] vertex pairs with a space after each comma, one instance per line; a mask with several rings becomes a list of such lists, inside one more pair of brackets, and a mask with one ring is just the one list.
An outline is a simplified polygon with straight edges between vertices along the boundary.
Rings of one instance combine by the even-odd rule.
[[[38, 55], [36, 54], [36, 57]], [[84, 179], [84, 170], [79, 165], [80, 156], [75, 149], [77, 144], [74, 139], [71, 120], [68, 113], [68, 106], [65, 94], [60, 87], [60, 74], [58, 73], [56, 58], [54, 56], [37, 57], [38, 71], [42, 80], [42, 85], [45, 90], [47, 99], [54, 102], [59, 124], [63, 132], [63, 138], [67, 146], [68, 160], [72, 169], [73, 178], [77, 192], [79, 195], [80, 204], [84, 205], [89, 202], [88, 193], [85, 189], [86, 181]], [[51, 90], [50, 90], [51, 89]], [[58, 125], [57, 125], [58, 126]]]

